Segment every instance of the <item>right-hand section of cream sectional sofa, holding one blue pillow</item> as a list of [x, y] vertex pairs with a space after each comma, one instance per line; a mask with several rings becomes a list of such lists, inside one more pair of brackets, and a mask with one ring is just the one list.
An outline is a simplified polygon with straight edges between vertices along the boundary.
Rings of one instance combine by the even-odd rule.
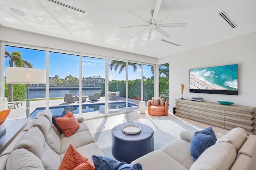
[[194, 162], [190, 142], [194, 133], [183, 131], [180, 139], [133, 162], [143, 170], [256, 170], [256, 136], [235, 128], [206, 149]]

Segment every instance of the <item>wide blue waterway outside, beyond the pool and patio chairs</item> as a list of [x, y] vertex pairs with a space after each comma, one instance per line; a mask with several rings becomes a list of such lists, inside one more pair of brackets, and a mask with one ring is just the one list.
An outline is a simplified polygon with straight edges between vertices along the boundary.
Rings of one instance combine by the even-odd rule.
[[[82, 96], [93, 95], [94, 92], [101, 93], [101, 89], [82, 90]], [[73, 96], [79, 96], [79, 90], [50, 90], [49, 98], [64, 98], [66, 93], [71, 93]], [[45, 98], [45, 90], [30, 90], [30, 99]]]

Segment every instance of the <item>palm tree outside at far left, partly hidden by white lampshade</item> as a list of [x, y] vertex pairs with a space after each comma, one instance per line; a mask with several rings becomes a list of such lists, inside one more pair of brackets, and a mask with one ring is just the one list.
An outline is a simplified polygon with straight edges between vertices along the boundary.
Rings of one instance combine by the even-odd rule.
[[[10, 67], [29, 67], [32, 68], [32, 64], [26, 60], [22, 59], [21, 53], [18, 51], [13, 51], [11, 54], [4, 50], [4, 58], [9, 59], [9, 66]], [[8, 92], [9, 92], [9, 102], [12, 102], [12, 87], [13, 84], [8, 84]]]

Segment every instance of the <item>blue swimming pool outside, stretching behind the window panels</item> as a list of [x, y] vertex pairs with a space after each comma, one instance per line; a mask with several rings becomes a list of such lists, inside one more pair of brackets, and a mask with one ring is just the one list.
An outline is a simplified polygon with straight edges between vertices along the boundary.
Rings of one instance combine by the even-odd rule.
[[[137, 104], [128, 103], [128, 107], [138, 106]], [[114, 102], [108, 104], [108, 109], [118, 109], [118, 108], [125, 108], [125, 102]], [[34, 119], [36, 115], [43, 111], [45, 107], [37, 107], [32, 113], [30, 113], [30, 118]], [[68, 105], [68, 106], [51, 106], [49, 110], [52, 112], [52, 115], [60, 115], [63, 110], [70, 110], [74, 114], [79, 113], [79, 105]], [[105, 104], [83, 104], [82, 105], [82, 113], [88, 113], [92, 111], [105, 111]]]

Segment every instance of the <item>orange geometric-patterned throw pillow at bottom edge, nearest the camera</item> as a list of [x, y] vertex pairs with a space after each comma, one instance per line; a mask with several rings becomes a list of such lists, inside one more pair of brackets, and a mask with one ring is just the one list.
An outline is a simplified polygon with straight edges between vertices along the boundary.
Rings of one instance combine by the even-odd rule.
[[59, 170], [82, 170], [82, 168], [95, 170], [94, 164], [70, 144], [60, 163]]

